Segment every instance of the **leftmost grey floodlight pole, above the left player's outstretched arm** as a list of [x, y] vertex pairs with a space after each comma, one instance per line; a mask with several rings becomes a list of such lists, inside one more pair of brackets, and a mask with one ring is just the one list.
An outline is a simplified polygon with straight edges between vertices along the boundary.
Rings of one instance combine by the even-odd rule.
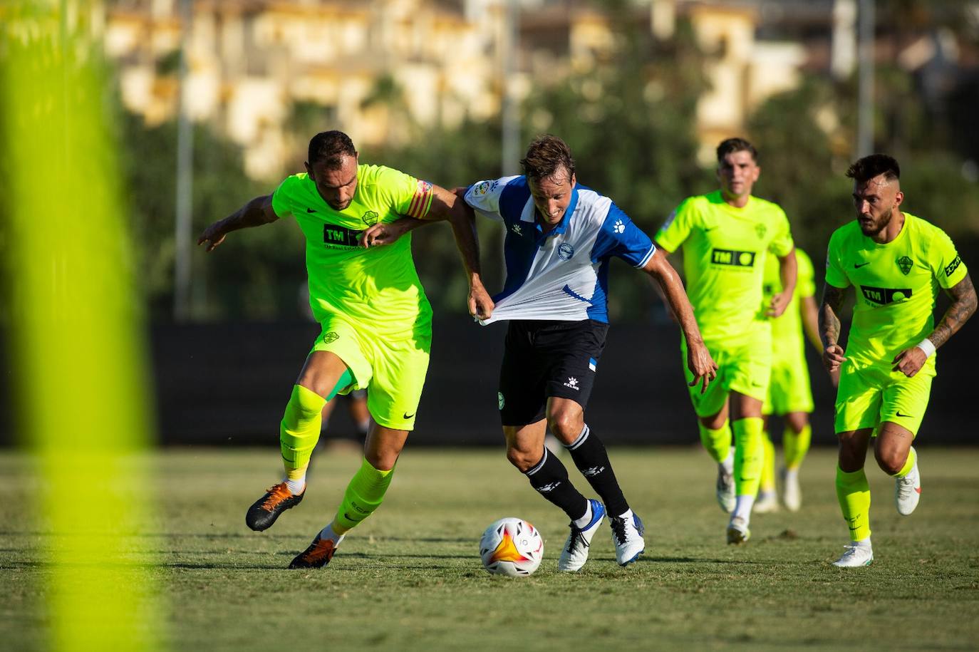
[[193, 0], [180, 0], [180, 92], [177, 100], [177, 178], [174, 218], [173, 320], [190, 317], [191, 219], [194, 192], [194, 126], [187, 115], [188, 53]]

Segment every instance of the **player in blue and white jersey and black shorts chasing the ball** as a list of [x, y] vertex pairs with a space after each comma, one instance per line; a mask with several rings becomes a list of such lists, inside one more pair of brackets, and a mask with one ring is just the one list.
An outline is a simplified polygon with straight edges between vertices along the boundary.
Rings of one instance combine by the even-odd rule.
[[[538, 137], [521, 165], [524, 174], [477, 182], [463, 195], [468, 207], [501, 221], [507, 231], [506, 281], [493, 297], [492, 314], [481, 320], [510, 322], [498, 393], [507, 458], [571, 519], [558, 570], [582, 568], [606, 514], [617, 561], [626, 566], [644, 549], [643, 525], [629, 508], [605, 445], [584, 422], [609, 327], [609, 261], [620, 257], [663, 288], [689, 347], [693, 384], [706, 389], [717, 365], [674, 268], [625, 212], [578, 184], [564, 141]], [[365, 244], [393, 242], [418, 225], [410, 219], [378, 225], [365, 234]], [[547, 428], [601, 501], [575, 489], [565, 466], [547, 452]]]

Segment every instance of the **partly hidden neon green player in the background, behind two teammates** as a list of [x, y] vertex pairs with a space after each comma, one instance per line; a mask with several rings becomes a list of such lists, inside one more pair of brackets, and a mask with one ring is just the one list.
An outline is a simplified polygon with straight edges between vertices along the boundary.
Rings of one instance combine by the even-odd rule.
[[[816, 272], [813, 261], [798, 247], [796, 267], [796, 290], [792, 300], [785, 307], [782, 316], [771, 319], [771, 379], [769, 396], [766, 396], [762, 405], [762, 415], [765, 418], [765, 463], [754, 509], [759, 514], [778, 508], [778, 499], [775, 496], [775, 448], [769, 438], [769, 416], [776, 414], [784, 422], [782, 503], [791, 512], [798, 511], [802, 504], [799, 467], [802, 466], [812, 441], [809, 415], [813, 412], [813, 390], [806, 364], [806, 339], [820, 352], [822, 344], [817, 325], [819, 308], [815, 299]], [[765, 263], [764, 287], [762, 305], [767, 306], [771, 297], [782, 289], [778, 258], [774, 256], [769, 256]]]

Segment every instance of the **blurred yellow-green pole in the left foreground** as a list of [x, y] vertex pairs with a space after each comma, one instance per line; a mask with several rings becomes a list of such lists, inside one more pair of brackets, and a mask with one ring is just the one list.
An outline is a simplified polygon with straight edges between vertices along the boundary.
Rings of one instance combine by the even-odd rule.
[[[22, 441], [55, 650], [160, 649], [143, 311], [84, 0], [0, 4], [0, 215]], [[149, 155], [149, 154], [148, 154]], [[157, 531], [152, 528], [157, 527]]]

